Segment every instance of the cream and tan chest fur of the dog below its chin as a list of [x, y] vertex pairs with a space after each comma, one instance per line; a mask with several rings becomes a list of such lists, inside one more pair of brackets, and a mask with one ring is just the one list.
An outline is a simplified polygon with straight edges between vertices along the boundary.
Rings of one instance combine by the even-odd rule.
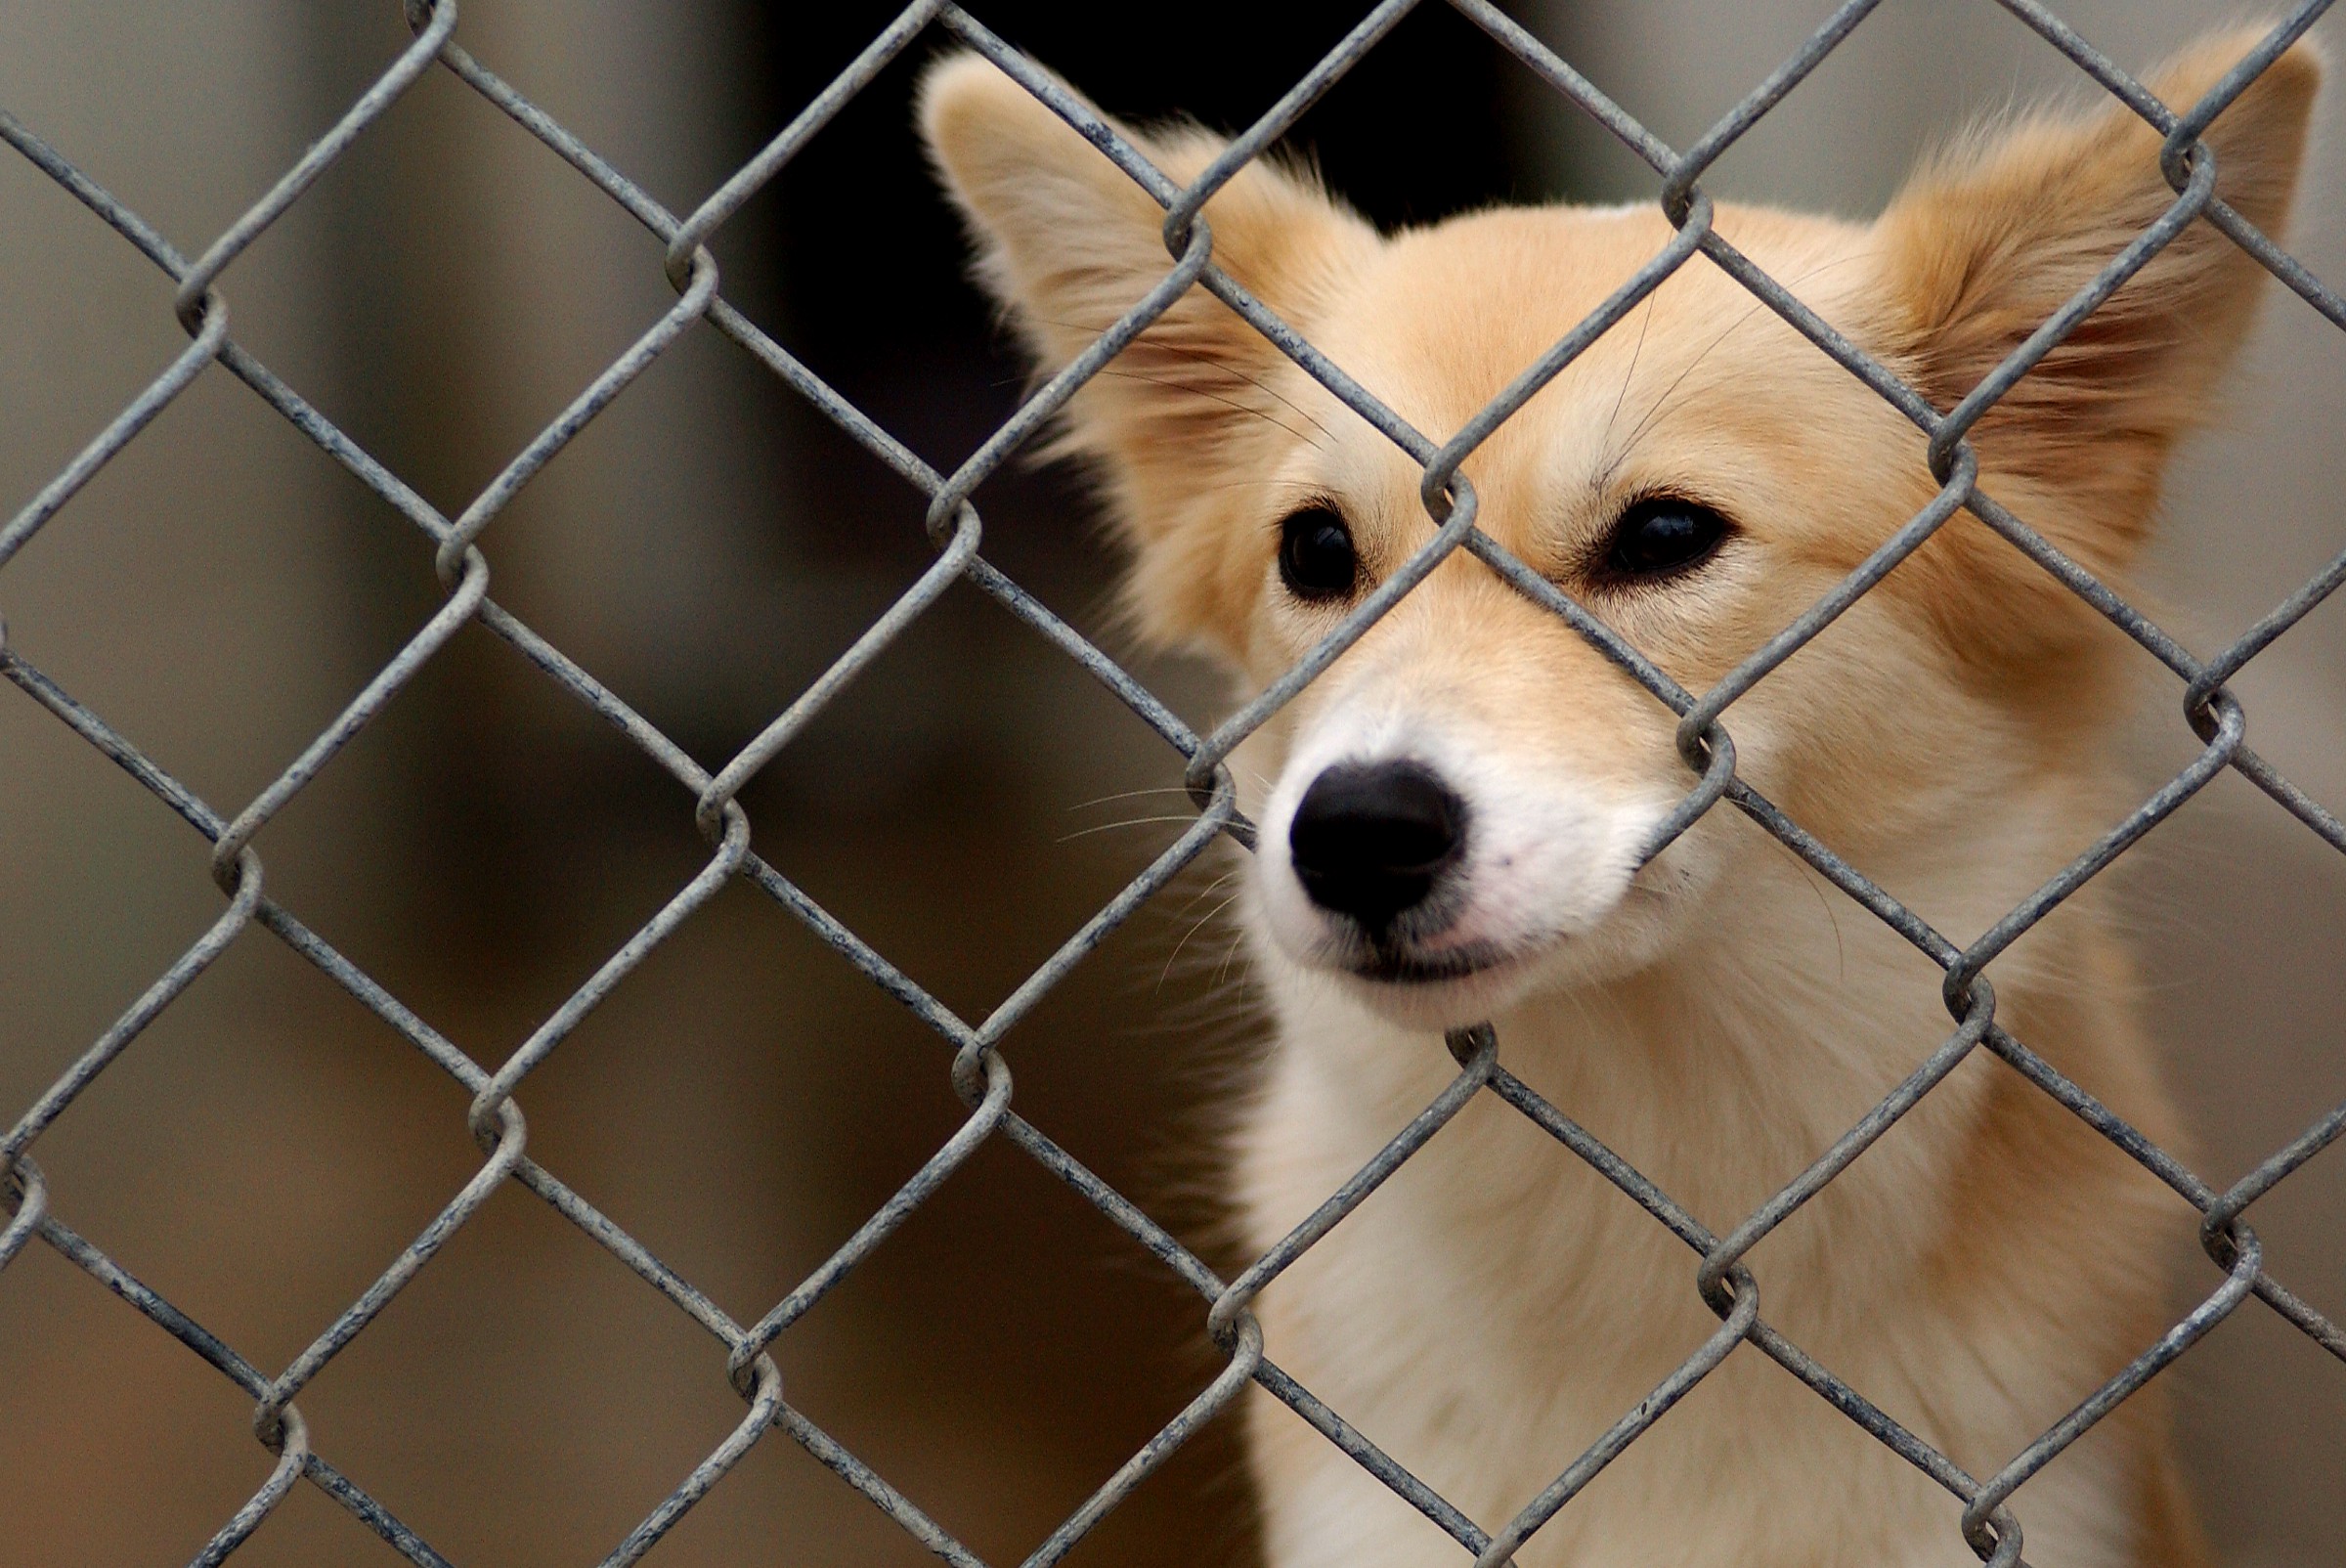
[[[1799, 941], [1799, 925], [1752, 920], [1750, 941], [1774, 946], [1788, 930]], [[1912, 981], [1884, 939], [1896, 944], [1851, 922], [1830, 988], [1788, 979], [1802, 965], [1783, 953], [1722, 951], [1633, 988], [1551, 995], [1499, 1019], [1499, 1059], [1727, 1232], [1947, 1038], [1928, 986], [1879, 984], [1884, 967]], [[1750, 958], [1776, 981], [1752, 984], [1738, 969]], [[1853, 984], [1839, 984], [1851, 967]], [[1274, 1007], [1279, 1047], [1239, 1138], [1255, 1249], [1457, 1073], [1438, 1038], [1325, 993], [1290, 991]], [[1987, 1138], [2013, 1089], [2011, 1070], [1978, 1052], [1748, 1258], [1769, 1324], [1973, 1474], [2140, 1350], [2095, 1324], [2095, 1300], [2135, 1291], [2151, 1268], [2116, 1246], [2074, 1253], [2067, 1225], [2032, 1232], [2032, 1174]], [[2072, 1176], [2069, 1199], [2104, 1204], [2104, 1225], [2140, 1246], [2142, 1204], [2123, 1171], [2088, 1157], [2083, 1185], [2090, 1195]], [[1595, 1169], [1480, 1094], [1274, 1282], [1260, 1312], [1276, 1364], [1494, 1530], [1717, 1329], [1696, 1268]], [[2015, 1385], [2008, 1368], [2036, 1371]], [[1257, 1406], [1274, 1568], [1398, 1568], [1457, 1552], [1290, 1411]], [[2116, 1422], [2020, 1493], [2032, 1561], [2144, 1561], [2130, 1441]], [[1518, 1561], [1961, 1568], [1978, 1559], [1957, 1516], [1947, 1491], [1741, 1345]]]

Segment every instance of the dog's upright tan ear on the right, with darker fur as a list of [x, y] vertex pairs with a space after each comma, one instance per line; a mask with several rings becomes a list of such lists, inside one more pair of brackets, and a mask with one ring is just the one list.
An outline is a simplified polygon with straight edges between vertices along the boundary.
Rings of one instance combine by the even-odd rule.
[[[2186, 113], [2259, 38], [2210, 38], [2147, 85]], [[2215, 192], [2269, 235], [2290, 214], [2320, 75], [2299, 42], [2203, 136]], [[1891, 317], [1881, 336], [1938, 408], [2175, 202], [2158, 148], [2158, 131], [2111, 103], [1973, 136], [1907, 183], [1874, 225]], [[2149, 528], [2168, 451], [2247, 336], [2262, 277], [2215, 225], [2186, 225], [1973, 427], [1989, 493], [2008, 491], [2088, 566], [2123, 566]]]

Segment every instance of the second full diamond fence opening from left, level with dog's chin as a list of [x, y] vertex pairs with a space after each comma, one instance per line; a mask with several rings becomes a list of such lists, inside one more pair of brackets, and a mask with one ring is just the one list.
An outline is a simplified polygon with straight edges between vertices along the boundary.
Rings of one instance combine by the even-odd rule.
[[579, 1181], [596, 1207], [751, 1322], [969, 1122], [950, 1061], [737, 885], [533, 1080], [533, 1150], [594, 1171]]

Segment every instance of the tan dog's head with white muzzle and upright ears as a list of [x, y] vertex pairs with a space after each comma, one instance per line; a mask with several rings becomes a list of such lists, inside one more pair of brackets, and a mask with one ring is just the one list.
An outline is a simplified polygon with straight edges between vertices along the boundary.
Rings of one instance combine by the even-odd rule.
[[[2250, 45], [2151, 77], [2194, 103]], [[2205, 141], [2276, 230], [2320, 66], [2299, 45]], [[1171, 270], [1164, 211], [976, 59], [922, 127], [981, 275], [1046, 371]], [[1220, 141], [1126, 131], [1175, 181]], [[1874, 223], [1760, 209], [1720, 232], [1935, 406], [1957, 404], [2175, 200], [2133, 113], [2039, 115], [1931, 162]], [[1293, 167], [1208, 204], [1213, 258], [1436, 441], [1647, 258], [1640, 209], [1497, 209], [1379, 235]], [[2191, 223], [1973, 430], [1982, 488], [2104, 577], [2245, 333], [2259, 270]], [[1070, 406], [1128, 545], [1145, 636], [1276, 678], [1433, 535], [1422, 469], [1192, 289]], [[1694, 692], [1816, 603], [1938, 491], [1914, 425], [1696, 256], [1466, 462], [1478, 526]], [[2104, 629], [2107, 631], [2107, 629]], [[1738, 765], [1865, 864], [1957, 810], [2027, 815], [2083, 768], [2093, 610], [1968, 516], [1729, 711]], [[1241, 751], [1253, 913], [1384, 1012], [1466, 1021], [1621, 972], [1734, 899], [1757, 833], [1713, 812], [1652, 864], [1691, 775], [1675, 716], [1553, 613], [1455, 554]]]

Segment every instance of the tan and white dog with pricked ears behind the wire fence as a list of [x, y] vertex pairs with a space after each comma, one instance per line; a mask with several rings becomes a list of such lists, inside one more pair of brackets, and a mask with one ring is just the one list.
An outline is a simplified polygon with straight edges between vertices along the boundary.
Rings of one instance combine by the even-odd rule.
[[[2255, 35], [2149, 77], [2198, 101]], [[2287, 218], [2323, 61], [2297, 45], [2205, 131], [2217, 195]], [[929, 68], [920, 127], [976, 275], [1039, 373], [1171, 270], [1164, 211], [992, 63]], [[1119, 127], [1121, 129], [1121, 127]], [[1222, 141], [1121, 129], [1173, 181]], [[2039, 110], [1926, 160], [1872, 221], [1720, 204], [1717, 230], [1950, 408], [2175, 200], [2161, 136]], [[1203, 209], [1213, 258], [1436, 441], [1673, 230], [1499, 207], [1377, 232], [1293, 162]], [[1971, 430], [1980, 488], [2125, 584], [2163, 469], [2245, 336], [2259, 268], [2194, 221]], [[1262, 690], [1436, 530], [1422, 469], [1206, 289], [1070, 404], [1159, 648]], [[1938, 493], [1877, 392], [1696, 256], [1464, 465], [1478, 526], [1701, 692]], [[2133, 805], [2107, 763], [2140, 655], [1971, 516], [1734, 702], [1743, 779], [1957, 941]], [[1232, 1192], [1262, 1251], [1457, 1075], [1501, 1061], [1724, 1235], [1950, 1035], [1945, 974], [1731, 807], [1645, 859], [1694, 775], [1675, 714], [1464, 552], [1234, 756], [1243, 925], [1276, 1026]], [[1996, 1021], [2161, 1145], [2182, 1131], [2100, 883], [1987, 972]], [[2172, 1322], [2196, 1214], [1973, 1052], [1748, 1258], [1764, 1319], [1973, 1476]], [[1696, 1258], [1478, 1094], [1260, 1298], [1267, 1354], [1485, 1528], [1720, 1319]], [[1274, 1568], [1457, 1545], [1269, 1394], [1246, 1446]], [[2008, 1505], [2041, 1568], [2205, 1563], [2161, 1385]], [[1752, 1345], [1516, 1554], [1525, 1568], [1957, 1568], [1961, 1500]]]

